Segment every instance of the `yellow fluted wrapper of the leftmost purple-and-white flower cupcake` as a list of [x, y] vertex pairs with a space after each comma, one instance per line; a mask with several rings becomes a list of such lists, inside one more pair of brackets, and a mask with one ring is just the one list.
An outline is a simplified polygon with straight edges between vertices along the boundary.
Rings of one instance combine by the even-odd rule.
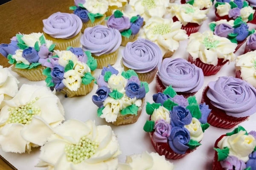
[[42, 74], [43, 70], [45, 69], [45, 67], [42, 65], [38, 65], [37, 68], [31, 69], [15, 68], [15, 65], [12, 65], [11, 69], [21, 77], [25, 77], [26, 79], [33, 82], [46, 79], [46, 76]]

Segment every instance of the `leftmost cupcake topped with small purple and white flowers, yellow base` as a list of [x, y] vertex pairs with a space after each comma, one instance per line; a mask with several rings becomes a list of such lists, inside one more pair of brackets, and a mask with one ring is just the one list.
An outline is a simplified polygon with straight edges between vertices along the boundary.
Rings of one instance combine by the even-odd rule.
[[0, 53], [9, 60], [12, 71], [30, 81], [41, 81], [44, 63], [52, 57], [55, 44], [42, 33], [16, 34], [11, 43], [0, 44]]

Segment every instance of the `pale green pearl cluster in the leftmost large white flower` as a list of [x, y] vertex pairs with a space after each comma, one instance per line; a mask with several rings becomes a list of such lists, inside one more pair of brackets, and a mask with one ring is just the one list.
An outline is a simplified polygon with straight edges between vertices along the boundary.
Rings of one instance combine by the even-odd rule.
[[33, 104], [38, 100], [38, 97], [32, 102], [26, 102], [26, 105], [22, 105], [16, 108], [8, 108], [9, 118], [7, 123], [21, 123], [28, 125], [33, 116], [38, 115], [41, 111], [40, 108], [35, 108]]

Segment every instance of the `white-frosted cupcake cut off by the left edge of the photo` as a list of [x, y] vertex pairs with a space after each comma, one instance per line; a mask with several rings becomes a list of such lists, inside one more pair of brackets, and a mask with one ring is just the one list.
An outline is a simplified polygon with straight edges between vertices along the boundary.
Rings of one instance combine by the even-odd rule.
[[0, 65], [0, 110], [4, 106], [4, 101], [12, 99], [18, 92], [18, 83], [8, 68]]

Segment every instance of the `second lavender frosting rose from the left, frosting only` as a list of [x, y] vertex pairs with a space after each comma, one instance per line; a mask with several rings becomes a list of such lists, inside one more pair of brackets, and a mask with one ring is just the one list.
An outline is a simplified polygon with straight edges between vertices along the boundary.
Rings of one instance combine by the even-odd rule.
[[102, 25], [86, 28], [80, 39], [83, 50], [89, 50], [95, 56], [113, 53], [119, 48], [121, 41], [118, 30]]

